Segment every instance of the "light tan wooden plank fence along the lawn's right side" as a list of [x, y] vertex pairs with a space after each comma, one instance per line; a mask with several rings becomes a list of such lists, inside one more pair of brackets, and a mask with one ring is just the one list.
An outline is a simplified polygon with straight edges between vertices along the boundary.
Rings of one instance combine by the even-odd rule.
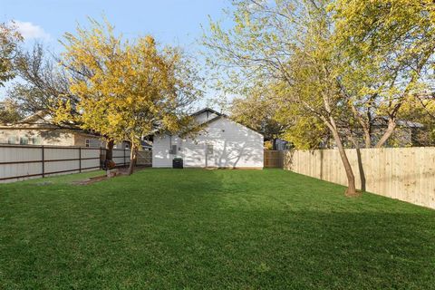
[[[358, 189], [435, 208], [435, 148], [346, 150]], [[338, 150], [285, 152], [284, 168], [347, 185]]]

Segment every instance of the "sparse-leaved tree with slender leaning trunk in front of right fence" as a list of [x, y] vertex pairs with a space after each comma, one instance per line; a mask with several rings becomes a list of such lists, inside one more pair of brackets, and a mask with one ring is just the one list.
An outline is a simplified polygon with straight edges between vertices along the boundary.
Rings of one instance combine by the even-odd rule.
[[284, 83], [282, 110], [295, 111], [291, 108], [297, 106], [303, 118], [295, 126], [315, 118], [330, 131], [348, 179], [346, 195], [355, 195], [353, 169], [340, 136], [340, 122], [347, 122], [349, 113], [337, 84], [341, 55], [334, 50], [328, 3], [241, 0], [233, 4], [232, 29], [210, 24], [205, 44], [213, 55], [208, 62], [220, 70], [225, 68], [229, 78], [223, 83], [234, 88], [258, 82]]

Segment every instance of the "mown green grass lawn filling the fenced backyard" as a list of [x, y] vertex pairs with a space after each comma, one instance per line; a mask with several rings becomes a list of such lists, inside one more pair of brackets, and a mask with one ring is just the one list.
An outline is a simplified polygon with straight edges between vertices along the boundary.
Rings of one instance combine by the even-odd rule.
[[0, 185], [1, 289], [434, 289], [435, 210], [284, 170]]

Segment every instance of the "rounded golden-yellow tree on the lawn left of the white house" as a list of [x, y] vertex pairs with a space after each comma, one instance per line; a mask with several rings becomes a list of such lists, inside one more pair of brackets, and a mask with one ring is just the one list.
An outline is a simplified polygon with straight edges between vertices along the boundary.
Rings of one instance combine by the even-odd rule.
[[189, 125], [198, 76], [177, 48], [160, 49], [151, 36], [130, 42], [115, 35], [108, 22], [91, 24], [64, 35], [62, 63], [73, 73], [70, 90], [78, 102], [75, 107], [62, 102], [57, 118], [113, 140], [130, 140], [132, 173], [142, 136]]

